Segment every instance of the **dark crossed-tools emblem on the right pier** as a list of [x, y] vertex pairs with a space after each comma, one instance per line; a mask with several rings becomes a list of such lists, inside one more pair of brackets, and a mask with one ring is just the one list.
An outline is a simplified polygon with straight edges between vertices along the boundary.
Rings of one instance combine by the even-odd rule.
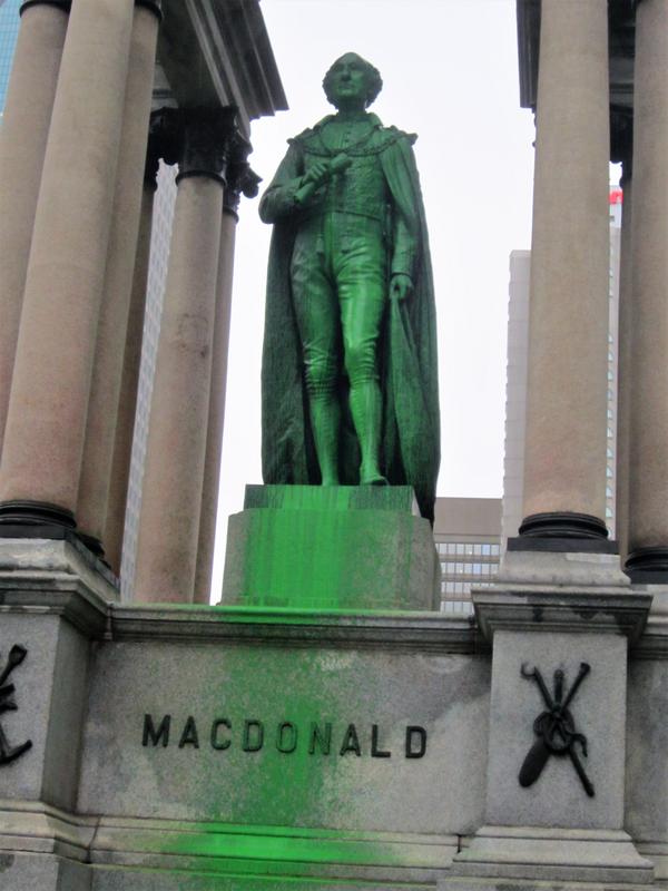
[[593, 785], [584, 773], [584, 767], [582, 767], [580, 757], [576, 752], [576, 744], [579, 743], [582, 755], [587, 757], [587, 737], [581, 733], [576, 733], [573, 716], [568, 711], [568, 706], [571, 704], [580, 684], [591, 670], [590, 666], [586, 662], [580, 663], [580, 670], [570, 691], [567, 693], [566, 699], [563, 698], [563, 672], [561, 668], [554, 672], [553, 697], [550, 695], [550, 691], [547, 688], [546, 682], [538, 668], [533, 668], [533, 670], [530, 672], [527, 664], [524, 664], [520, 670], [522, 677], [525, 677], [528, 681], [536, 681], [548, 708], [547, 712], [541, 712], [533, 722], [533, 733], [538, 736], [538, 740], [529, 750], [522, 768], [520, 770], [520, 785], [530, 786], [534, 783], [540, 776], [550, 755], [568, 755], [576, 768], [576, 773], [580, 777], [584, 792], [587, 792], [590, 797], [593, 797]]

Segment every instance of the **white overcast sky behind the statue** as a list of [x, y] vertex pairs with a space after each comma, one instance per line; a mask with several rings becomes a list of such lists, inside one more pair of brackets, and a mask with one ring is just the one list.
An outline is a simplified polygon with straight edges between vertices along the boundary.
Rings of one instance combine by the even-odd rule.
[[[332, 109], [326, 69], [355, 51], [380, 69], [372, 106], [416, 133], [439, 321], [442, 496], [500, 497], [509, 255], [531, 239], [533, 118], [519, 107], [514, 0], [263, 0], [289, 111], [255, 121], [268, 184], [285, 140]], [[259, 366], [271, 227], [242, 200], [213, 601], [227, 517], [262, 482]]]

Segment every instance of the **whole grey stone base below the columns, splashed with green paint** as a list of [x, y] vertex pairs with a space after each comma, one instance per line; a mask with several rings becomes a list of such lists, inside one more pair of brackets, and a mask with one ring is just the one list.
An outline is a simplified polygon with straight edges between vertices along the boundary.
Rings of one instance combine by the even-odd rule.
[[[628, 885], [652, 863], [668, 878], [668, 623], [650, 615], [640, 634], [650, 595], [617, 586], [613, 567], [580, 595], [538, 571], [478, 591], [481, 635], [426, 611], [124, 606], [57, 544], [0, 554], [0, 652], [29, 652], [1, 722], [12, 744], [33, 741], [0, 767], [11, 891]], [[548, 684], [563, 667], [567, 686], [591, 665], [571, 711], [593, 799], [553, 756], [520, 787], [543, 709], [524, 662]], [[246, 721], [263, 723], [258, 751], [244, 751]], [[331, 725], [327, 754], [310, 752], [312, 723]], [[423, 757], [406, 757], [410, 726], [426, 732]]]

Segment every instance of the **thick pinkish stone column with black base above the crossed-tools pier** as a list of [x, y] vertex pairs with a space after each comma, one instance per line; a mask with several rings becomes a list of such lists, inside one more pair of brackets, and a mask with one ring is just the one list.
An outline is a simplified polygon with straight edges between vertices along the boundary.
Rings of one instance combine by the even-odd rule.
[[543, 0], [524, 539], [607, 536], [608, 96], [606, 0]]

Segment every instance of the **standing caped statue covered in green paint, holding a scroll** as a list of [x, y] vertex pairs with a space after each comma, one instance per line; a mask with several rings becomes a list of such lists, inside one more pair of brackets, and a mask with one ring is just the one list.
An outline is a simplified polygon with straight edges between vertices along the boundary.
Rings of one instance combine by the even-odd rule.
[[410, 484], [433, 519], [435, 311], [415, 136], [366, 110], [382, 80], [356, 53], [323, 87], [336, 114], [289, 140], [259, 207], [274, 224], [264, 480]]

